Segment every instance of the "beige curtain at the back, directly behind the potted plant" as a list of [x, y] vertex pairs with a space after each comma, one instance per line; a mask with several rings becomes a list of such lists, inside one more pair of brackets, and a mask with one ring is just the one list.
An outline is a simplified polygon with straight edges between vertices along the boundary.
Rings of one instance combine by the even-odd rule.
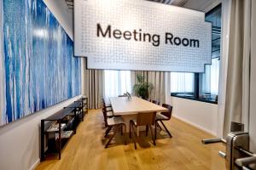
[[131, 71], [131, 85], [137, 83], [137, 74], [143, 75], [147, 82], [153, 84], [153, 90], [149, 94], [150, 99], [166, 103], [166, 73], [161, 71]]

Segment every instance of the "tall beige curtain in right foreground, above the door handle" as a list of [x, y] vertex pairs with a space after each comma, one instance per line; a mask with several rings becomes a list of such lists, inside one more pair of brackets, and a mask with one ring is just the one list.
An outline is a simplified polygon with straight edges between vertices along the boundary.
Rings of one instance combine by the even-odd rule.
[[231, 2], [224, 136], [230, 132], [230, 122], [242, 122], [248, 130], [251, 3], [251, 0]]

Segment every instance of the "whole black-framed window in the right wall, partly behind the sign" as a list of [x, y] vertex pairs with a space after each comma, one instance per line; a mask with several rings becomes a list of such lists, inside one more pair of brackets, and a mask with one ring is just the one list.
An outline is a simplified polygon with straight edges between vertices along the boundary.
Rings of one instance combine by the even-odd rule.
[[221, 42], [221, 4], [206, 14], [212, 23], [212, 65], [204, 73], [171, 73], [172, 96], [210, 103], [218, 102], [218, 82]]

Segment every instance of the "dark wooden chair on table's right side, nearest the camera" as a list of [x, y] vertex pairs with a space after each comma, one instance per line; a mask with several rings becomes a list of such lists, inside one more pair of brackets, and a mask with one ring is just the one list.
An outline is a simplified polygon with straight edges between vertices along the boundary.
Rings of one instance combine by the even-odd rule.
[[[156, 116], [155, 116], [155, 128], [154, 128], [155, 139], [156, 139], [156, 127], [160, 127], [158, 122], [161, 122], [163, 127], [165, 127], [166, 132], [169, 134], [170, 138], [172, 138], [172, 134], [168, 131], [168, 129], [166, 128], [166, 125], [163, 123], [163, 121], [169, 121], [171, 119], [172, 105], [163, 104], [162, 106], [165, 107], [166, 109], [168, 109], [168, 112], [161, 112], [161, 113], [156, 114]], [[161, 129], [161, 127], [160, 127], [160, 129]]]

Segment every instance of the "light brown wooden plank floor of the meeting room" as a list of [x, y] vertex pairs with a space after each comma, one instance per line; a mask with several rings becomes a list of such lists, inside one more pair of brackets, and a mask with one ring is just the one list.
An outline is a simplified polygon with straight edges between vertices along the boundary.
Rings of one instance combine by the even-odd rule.
[[123, 143], [118, 134], [108, 149], [104, 149], [102, 112], [92, 110], [79, 124], [78, 132], [62, 150], [61, 160], [51, 159], [41, 162], [37, 169], [81, 169], [81, 170], [224, 170], [224, 159], [218, 156], [218, 150], [224, 151], [222, 144], [201, 144], [201, 139], [212, 138], [211, 135], [172, 117], [166, 126], [173, 138], [160, 132], [156, 146], [150, 135], [142, 133], [138, 139], [137, 150], [129, 139]]

